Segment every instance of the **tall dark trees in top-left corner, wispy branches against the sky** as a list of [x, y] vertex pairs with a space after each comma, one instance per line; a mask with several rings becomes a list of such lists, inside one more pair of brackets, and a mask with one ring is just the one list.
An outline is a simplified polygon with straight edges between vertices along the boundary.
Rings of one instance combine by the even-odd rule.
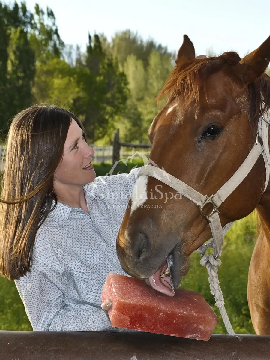
[[60, 57], [63, 42], [53, 12], [24, 3], [0, 3], [0, 128], [5, 138], [11, 118], [35, 102], [32, 86], [36, 63]]

